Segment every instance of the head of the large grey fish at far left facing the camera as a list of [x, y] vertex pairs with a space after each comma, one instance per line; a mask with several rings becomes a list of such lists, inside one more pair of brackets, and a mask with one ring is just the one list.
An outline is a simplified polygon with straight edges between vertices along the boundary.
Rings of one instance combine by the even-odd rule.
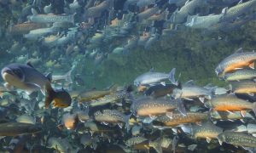
[[19, 65], [15, 64], [5, 66], [1, 74], [3, 80], [5, 82], [11, 82], [11, 84], [14, 84], [15, 82], [24, 82], [25, 80], [24, 71], [22, 71]]

